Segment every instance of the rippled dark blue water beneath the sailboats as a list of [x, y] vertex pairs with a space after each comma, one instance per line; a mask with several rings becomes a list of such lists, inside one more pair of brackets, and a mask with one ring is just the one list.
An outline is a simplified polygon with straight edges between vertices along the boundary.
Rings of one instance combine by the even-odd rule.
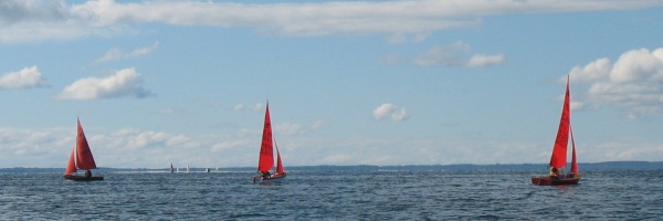
[[[0, 173], [1, 220], [661, 220], [663, 170], [582, 171], [578, 186], [537, 187], [547, 171]], [[97, 172], [98, 173], [98, 172]], [[95, 173], [96, 175], [96, 173]]]

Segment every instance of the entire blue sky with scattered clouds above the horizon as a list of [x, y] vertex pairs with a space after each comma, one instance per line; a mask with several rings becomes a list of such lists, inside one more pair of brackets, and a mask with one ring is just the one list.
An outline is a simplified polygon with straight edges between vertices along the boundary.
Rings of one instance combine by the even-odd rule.
[[[663, 160], [663, 1], [0, 2], [0, 168]], [[582, 169], [582, 168], [581, 168]]]

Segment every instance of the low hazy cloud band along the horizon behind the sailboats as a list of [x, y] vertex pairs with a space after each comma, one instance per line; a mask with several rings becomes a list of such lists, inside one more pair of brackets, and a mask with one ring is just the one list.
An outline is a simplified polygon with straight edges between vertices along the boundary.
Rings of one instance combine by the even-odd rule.
[[[85, 126], [85, 125], [84, 125]], [[90, 125], [88, 125], [90, 126]], [[171, 134], [166, 131], [85, 127], [97, 166], [114, 168], [248, 167], [254, 166], [260, 133], [252, 136]], [[352, 137], [278, 139], [287, 166], [314, 165], [451, 165], [544, 164], [550, 159], [549, 140], [452, 140], [442, 138]], [[63, 168], [75, 143], [75, 124], [63, 128], [25, 130], [0, 128], [0, 168]], [[614, 160], [660, 161], [663, 144], [636, 138], [577, 144], [581, 162]], [[376, 157], [376, 152], [381, 152]], [[526, 159], [524, 161], [524, 159]]]

